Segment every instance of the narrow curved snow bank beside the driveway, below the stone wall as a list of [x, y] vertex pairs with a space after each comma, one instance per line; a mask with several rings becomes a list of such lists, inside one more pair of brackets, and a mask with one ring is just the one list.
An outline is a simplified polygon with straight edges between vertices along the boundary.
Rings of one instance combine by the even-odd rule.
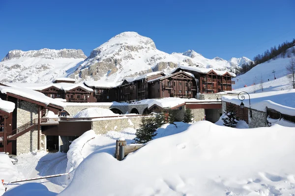
[[[89, 140], [95, 138], [96, 134], [93, 130], [89, 130], [85, 132], [82, 136], [74, 140], [71, 145], [70, 149], [67, 152], [67, 167], [66, 171], [71, 172], [75, 170], [79, 164], [83, 161], [83, 155], [82, 155], [82, 149], [85, 143], [87, 143]], [[73, 173], [70, 174], [70, 178], [73, 177]]]

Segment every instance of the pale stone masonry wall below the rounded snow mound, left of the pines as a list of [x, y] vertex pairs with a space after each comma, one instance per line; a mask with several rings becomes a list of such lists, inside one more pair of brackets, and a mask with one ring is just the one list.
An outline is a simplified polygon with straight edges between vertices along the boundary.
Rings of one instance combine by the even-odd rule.
[[108, 131], [120, 132], [125, 128], [138, 129], [141, 124], [141, 120], [141, 117], [97, 120], [92, 121], [92, 129], [95, 134], [105, 134]]

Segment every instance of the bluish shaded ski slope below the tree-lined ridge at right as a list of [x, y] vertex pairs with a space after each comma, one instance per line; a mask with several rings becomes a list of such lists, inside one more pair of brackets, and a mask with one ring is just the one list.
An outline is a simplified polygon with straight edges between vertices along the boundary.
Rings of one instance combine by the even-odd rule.
[[[291, 50], [291, 49], [288, 49]], [[253, 67], [251, 70], [237, 76], [233, 79], [236, 84], [233, 84], [235, 90], [245, 90], [247, 92], [261, 92], [261, 81], [263, 81], [263, 88], [269, 90], [281, 90], [282, 88], [289, 89], [290, 81], [287, 79], [286, 65], [290, 63], [290, 58], [278, 57], [275, 60], [271, 59], [267, 62], [261, 63]], [[273, 70], [275, 71], [274, 73]], [[274, 80], [274, 76], [276, 80]], [[268, 81], [269, 80], [269, 81]], [[244, 85], [247, 87], [244, 88]]]

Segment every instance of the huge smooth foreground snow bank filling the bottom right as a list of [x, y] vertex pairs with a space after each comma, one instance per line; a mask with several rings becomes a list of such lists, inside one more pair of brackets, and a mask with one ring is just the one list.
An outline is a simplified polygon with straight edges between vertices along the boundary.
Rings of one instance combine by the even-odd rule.
[[241, 130], [200, 121], [123, 161], [91, 154], [60, 196], [293, 195], [294, 138], [294, 128], [279, 125]]

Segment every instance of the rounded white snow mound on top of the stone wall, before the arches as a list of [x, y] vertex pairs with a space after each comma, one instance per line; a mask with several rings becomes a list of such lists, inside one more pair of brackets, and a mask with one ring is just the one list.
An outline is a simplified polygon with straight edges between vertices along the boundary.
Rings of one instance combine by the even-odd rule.
[[74, 118], [86, 118], [86, 117], [100, 117], [100, 116], [116, 116], [118, 114], [105, 108], [88, 108], [84, 109], [74, 115]]

